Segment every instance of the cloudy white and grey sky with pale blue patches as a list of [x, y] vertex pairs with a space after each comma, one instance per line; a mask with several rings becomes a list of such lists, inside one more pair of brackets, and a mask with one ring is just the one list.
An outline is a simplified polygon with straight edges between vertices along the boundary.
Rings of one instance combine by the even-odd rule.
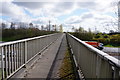
[[[114, 14], [117, 2], [118, 0], [2, 0], [0, 16], [3, 21], [33, 22], [40, 25], [47, 25], [51, 20], [52, 24], [63, 24], [64, 31], [70, 31], [72, 26], [83, 26], [86, 30], [91, 28], [94, 31], [96, 26], [104, 32], [108, 27], [115, 30], [112, 26], [117, 26], [117, 16]], [[112, 26], [111, 21], [115, 23]]]

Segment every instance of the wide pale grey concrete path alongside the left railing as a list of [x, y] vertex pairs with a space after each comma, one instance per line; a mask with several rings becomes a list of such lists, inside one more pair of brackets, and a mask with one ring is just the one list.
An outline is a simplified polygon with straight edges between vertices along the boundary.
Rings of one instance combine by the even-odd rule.
[[[65, 36], [65, 34], [63, 35]], [[54, 42], [47, 50], [45, 50], [41, 58], [32, 66], [32, 68], [27, 72], [25, 78], [47, 78], [50, 73], [51, 66], [53, 65], [54, 59], [58, 53], [60, 44], [62, 42], [63, 36], [60, 37], [56, 42]]]

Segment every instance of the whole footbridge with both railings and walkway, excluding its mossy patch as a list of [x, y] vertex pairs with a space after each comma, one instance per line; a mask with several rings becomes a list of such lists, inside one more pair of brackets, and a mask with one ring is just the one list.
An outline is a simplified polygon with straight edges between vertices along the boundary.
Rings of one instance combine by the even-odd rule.
[[55, 33], [0, 44], [0, 78], [59, 79], [58, 70], [69, 47], [77, 79], [119, 79], [120, 60], [68, 33]]

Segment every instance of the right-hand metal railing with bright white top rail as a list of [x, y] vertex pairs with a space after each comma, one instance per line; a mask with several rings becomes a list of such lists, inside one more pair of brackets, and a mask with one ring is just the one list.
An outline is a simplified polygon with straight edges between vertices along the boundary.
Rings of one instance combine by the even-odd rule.
[[67, 39], [77, 66], [85, 79], [120, 79], [120, 60], [86, 44], [71, 34], [67, 34]]

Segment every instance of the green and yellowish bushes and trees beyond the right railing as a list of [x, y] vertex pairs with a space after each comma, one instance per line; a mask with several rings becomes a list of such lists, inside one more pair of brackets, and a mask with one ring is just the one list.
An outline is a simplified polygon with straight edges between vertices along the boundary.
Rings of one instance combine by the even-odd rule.
[[97, 41], [101, 42], [104, 45], [113, 45], [120, 46], [120, 34], [111, 34], [111, 33], [95, 33], [90, 29], [88, 31], [84, 30], [84, 28], [79, 27], [79, 29], [74, 29], [74, 32], [71, 32], [75, 37], [83, 40], [83, 41]]

